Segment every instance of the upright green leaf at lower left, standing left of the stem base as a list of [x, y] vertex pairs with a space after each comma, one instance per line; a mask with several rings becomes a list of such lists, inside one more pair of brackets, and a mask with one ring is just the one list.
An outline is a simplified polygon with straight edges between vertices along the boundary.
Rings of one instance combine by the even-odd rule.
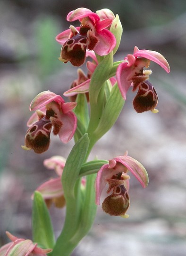
[[40, 192], [34, 192], [32, 211], [33, 241], [44, 248], [53, 248], [54, 235], [51, 218]]

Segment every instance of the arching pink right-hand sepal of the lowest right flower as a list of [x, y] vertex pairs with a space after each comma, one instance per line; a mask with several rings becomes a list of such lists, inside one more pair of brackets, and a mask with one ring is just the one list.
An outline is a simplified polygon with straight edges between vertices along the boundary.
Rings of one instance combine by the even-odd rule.
[[143, 188], [148, 185], [148, 174], [144, 166], [128, 155], [122, 155], [114, 158], [117, 162], [125, 165], [127, 169], [135, 176], [135, 178], [141, 183]]

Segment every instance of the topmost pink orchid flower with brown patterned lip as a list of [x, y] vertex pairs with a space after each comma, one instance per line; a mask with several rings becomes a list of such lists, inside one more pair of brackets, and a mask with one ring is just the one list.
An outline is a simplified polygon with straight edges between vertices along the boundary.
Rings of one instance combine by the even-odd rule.
[[108, 55], [116, 46], [116, 38], [107, 29], [113, 18], [101, 19], [98, 14], [87, 8], [78, 8], [70, 11], [67, 20], [79, 20], [80, 27], [70, 26], [60, 33], [56, 40], [62, 45], [59, 60], [68, 61], [74, 66], [84, 64], [86, 49], [94, 50], [98, 55]]

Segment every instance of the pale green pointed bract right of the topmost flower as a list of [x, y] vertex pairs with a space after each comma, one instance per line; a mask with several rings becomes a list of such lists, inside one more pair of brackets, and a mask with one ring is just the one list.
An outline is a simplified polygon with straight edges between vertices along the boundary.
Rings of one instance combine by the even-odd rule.
[[123, 27], [121, 25], [121, 22], [119, 20], [118, 14], [116, 14], [116, 18], [112, 21], [112, 25], [110, 27], [110, 32], [116, 37], [116, 46], [113, 49], [113, 53], [115, 54], [118, 50], [118, 47], [121, 42], [121, 36], [123, 33]]

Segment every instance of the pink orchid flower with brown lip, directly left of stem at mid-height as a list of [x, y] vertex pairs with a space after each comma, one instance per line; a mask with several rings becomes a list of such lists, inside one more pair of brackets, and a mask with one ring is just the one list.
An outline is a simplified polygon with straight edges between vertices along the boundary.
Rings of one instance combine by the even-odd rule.
[[31, 102], [30, 110], [36, 110], [27, 122], [30, 127], [25, 135], [24, 149], [43, 153], [49, 148], [51, 129], [63, 143], [73, 137], [76, 131], [76, 115], [72, 111], [76, 102], [67, 102], [51, 91], [39, 93]]

